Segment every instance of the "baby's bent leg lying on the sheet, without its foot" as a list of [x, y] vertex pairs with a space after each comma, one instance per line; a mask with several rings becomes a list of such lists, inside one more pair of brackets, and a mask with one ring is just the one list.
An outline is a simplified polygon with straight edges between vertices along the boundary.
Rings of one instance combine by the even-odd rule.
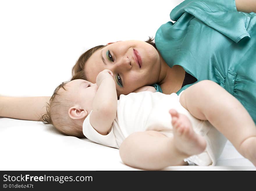
[[120, 157], [126, 165], [146, 170], [187, 165], [184, 158], [189, 155], [179, 151], [173, 140], [159, 131], [135, 132], [120, 145]]

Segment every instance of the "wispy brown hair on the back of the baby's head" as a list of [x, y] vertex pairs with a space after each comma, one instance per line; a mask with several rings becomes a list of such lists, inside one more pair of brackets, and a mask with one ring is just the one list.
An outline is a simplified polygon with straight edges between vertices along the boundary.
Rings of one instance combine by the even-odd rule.
[[46, 103], [46, 113], [38, 121], [43, 122], [43, 124], [52, 124], [58, 131], [66, 135], [84, 137], [81, 126], [77, 125], [73, 119], [67, 116], [67, 111], [65, 112], [65, 110], [68, 110], [68, 103], [70, 101], [56, 98], [61, 96], [59, 94], [61, 88], [65, 91], [67, 90], [66, 84], [68, 82], [70, 81], [62, 82], [57, 86], [49, 103]]

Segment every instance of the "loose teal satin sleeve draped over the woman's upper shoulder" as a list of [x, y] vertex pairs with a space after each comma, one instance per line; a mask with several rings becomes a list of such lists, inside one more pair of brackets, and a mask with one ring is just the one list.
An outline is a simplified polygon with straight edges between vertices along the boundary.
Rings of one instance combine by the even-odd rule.
[[184, 13], [193, 15], [236, 43], [246, 36], [250, 38], [246, 30], [250, 14], [238, 12], [235, 0], [185, 0], [171, 11], [170, 18], [178, 22]]

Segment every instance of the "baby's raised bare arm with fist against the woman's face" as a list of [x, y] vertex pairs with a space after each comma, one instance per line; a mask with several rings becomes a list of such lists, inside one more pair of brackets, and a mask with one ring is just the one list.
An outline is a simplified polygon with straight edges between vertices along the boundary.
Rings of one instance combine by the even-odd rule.
[[116, 117], [117, 94], [112, 76], [110, 70], [103, 70], [96, 79], [98, 90], [93, 99], [90, 124], [102, 135], [107, 135]]

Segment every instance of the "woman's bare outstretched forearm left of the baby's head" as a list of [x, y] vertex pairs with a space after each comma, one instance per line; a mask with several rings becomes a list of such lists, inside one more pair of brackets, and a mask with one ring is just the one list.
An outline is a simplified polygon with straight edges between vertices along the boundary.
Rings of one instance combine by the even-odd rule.
[[38, 121], [51, 97], [0, 97], [0, 116]]

